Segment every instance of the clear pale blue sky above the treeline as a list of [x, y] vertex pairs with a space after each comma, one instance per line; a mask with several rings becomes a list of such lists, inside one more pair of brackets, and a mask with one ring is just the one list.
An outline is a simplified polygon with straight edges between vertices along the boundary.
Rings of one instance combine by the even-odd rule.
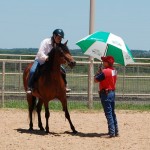
[[[150, 50], [150, 0], [95, 0], [94, 31], [121, 36], [130, 49]], [[89, 34], [90, 0], [0, 0], [0, 48], [38, 48], [56, 28], [69, 48]]]

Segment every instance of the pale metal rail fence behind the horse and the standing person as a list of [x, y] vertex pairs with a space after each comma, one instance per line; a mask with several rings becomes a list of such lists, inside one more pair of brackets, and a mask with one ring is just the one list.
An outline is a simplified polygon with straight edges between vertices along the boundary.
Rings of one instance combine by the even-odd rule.
[[[19, 59], [0, 59], [0, 103], [4, 106], [6, 101], [24, 100], [25, 92], [22, 84], [24, 68], [32, 60], [23, 60], [28, 55], [0, 55], [18, 57]], [[31, 57], [31, 55], [29, 55]], [[34, 56], [32, 56], [34, 57]], [[69, 100], [88, 100], [88, 62], [87, 57], [75, 56], [77, 66], [67, 70], [67, 81], [72, 91]], [[83, 61], [84, 59], [84, 61]], [[145, 58], [144, 58], [145, 59]], [[141, 60], [141, 59], [138, 59]], [[149, 59], [145, 59], [149, 60]], [[96, 72], [100, 62], [94, 62]], [[150, 63], [134, 63], [126, 67], [116, 65], [118, 70], [118, 82], [116, 99], [119, 101], [150, 101]], [[94, 84], [93, 99], [98, 98], [98, 85]], [[93, 101], [90, 101], [91, 103]]]

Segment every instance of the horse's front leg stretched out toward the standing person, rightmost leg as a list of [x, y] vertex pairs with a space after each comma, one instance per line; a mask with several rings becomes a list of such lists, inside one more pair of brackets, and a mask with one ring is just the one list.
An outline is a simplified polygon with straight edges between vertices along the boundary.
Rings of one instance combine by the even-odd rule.
[[70, 124], [70, 128], [72, 129], [73, 133], [76, 134], [77, 131], [74, 127], [74, 125], [72, 124], [71, 118], [70, 118], [70, 114], [68, 111], [68, 107], [67, 107], [67, 101], [61, 101], [62, 102], [62, 106], [63, 106], [63, 111], [65, 112], [65, 117], [68, 119], [69, 124]]

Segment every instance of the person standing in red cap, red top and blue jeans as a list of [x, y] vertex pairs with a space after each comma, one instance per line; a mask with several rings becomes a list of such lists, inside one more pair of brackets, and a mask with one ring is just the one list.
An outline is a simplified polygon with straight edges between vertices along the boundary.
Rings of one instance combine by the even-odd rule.
[[112, 56], [101, 57], [104, 69], [99, 69], [94, 77], [99, 82], [99, 96], [108, 123], [109, 137], [119, 135], [117, 117], [115, 114], [115, 88], [117, 71], [113, 68], [114, 58]]

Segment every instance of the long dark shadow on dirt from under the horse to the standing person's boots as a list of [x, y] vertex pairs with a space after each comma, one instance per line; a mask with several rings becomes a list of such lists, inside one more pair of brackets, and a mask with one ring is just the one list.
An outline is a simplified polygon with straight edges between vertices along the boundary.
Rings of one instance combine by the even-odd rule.
[[106, 137], [106, 135], [108, 135], [108, 133], [83, 133], [83, 132], [78, 132], [76, 134], [74, 134], [73, 132], [70, 131], [65, 131], [63, 133], [55, 133], [55, 132], [50, 132], [50, 133], [46, 133], [45, 131], [41, 131], [41, 130], [28, 130], [28, 129], [15, 129], [17, 132], [23, 134], [35, 134], [35, 135], [40, 135], [40, 136], [45, 136], [45, 135], [53, 135], [53, 136], [61, 136], [62, 134], [68, 134], [71, 136], [79, 136], [79, 137]]

